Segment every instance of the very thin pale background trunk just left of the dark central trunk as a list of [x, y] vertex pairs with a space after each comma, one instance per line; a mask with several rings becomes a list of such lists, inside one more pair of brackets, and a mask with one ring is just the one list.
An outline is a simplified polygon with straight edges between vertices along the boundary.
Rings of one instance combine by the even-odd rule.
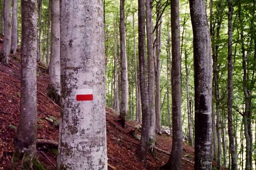
[[135, 43], [135, 26], [134, 13], [132, 13], [132, 28], [133, 28], [133, 53], [134, 53], [134, 71], [135, 71], [135, 92], [136, 92], [136, 122], [139, 121], [139, 96], [138, 96], [138, 80], [137, 80], [137, 58], [136, 58], [136, 43]]

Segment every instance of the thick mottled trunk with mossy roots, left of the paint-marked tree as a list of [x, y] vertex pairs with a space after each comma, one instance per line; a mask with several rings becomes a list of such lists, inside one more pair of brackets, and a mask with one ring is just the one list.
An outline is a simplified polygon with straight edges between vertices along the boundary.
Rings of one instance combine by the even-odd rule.
[[14, 139], [13, 162], [22, 163], [25, 169], [39, 165], [36, 150], [37, 135], [37, 8], [36, 0], [22, 0], [21, 46], [21, 103], [17, 136]]

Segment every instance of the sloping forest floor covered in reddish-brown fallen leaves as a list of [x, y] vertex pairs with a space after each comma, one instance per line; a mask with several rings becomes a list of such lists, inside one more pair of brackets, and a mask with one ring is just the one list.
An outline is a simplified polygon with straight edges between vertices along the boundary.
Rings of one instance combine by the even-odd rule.
[[[0, 50], [3, 46], [3, 37], [0, 37]], [[21, 59], [20, 49], [16, 54], [10, 55], [9, 66], [0, 63], [0, 169], [11, 169], [11, 157], [13, 154], [13, 140], [18, 128], [20, 112], [20, 71]], [[49, 75], [46, 67], [38, 64], [37, 67], [37, 112], [38, 112], [38, 139], [49, 139], [59, 141], [58, 121], [54, 123], [45, 118], [60, 118], [60, 107], [56, 105], [45, 94], [48, 86]], [[50, 116], [50, 117], [49, 117]], [[54, 118], [53, 118], [54, 117]], [[136, 150], [139, 141], [134, 139], [130, 130], [134, 129], [137, 122], [127, 120], [126, 129], [121, 127], [118, 115], [114, 110], [106, 107], [107, 126], [107, 151], [108, 163], [116, 167], [117, 170], [146, 170], [143, 163], [136, 157]], [[54, 125], [55, 124], [55, 125]], [[137, 134], [140, 134], [135, 130]], [[170, 152], [172, 147], [172, 137], [166, 135], [156, 135], [156, 147]], [[54, 170], [57, 163], [57, 156], [45, 146], [38, 146], [38, 157], [47, 170]], [[183, 158], [189, 161], [182, 161], [183, 170], [194, 169], [194, 148], [186, 142], [183, 143]], [[155, 150], [158, 160], [149, 153], [146, 158], [147, 169], [157, 170], [169, 159], [169, 156], [162, 151]], [[213, 162], [213, 165], [216, 165]], [[15, 166], [16, 169], [20, 169]], [[110, 168], [109, 168], [110, 169]]]

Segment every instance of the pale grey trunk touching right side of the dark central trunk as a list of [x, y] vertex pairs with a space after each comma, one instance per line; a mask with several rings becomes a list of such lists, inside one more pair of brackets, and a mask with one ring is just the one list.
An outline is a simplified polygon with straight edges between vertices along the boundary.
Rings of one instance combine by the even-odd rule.
[[[152, 21], [152, 9], [153, 1], [146, 0], [146, 33], [147, 33], [147, 71], [148, 71], [148, 102], [149, 102], [149, 114], [150, 114], [150, 127], [149, 127], [149, 147], [153, 151], [155, 146], [155, 66], [154, 66], [154, 54], [153, 54], [153, 21]], [[143, 99], [142, 99], [143, 100]]]

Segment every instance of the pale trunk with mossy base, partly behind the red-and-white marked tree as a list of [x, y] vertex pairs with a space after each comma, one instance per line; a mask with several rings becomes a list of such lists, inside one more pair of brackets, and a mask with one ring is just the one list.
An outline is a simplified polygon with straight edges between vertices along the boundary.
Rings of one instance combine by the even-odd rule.
[[51, 57], [47, 95], [60, 105], [60, 0], [51, 0]]

